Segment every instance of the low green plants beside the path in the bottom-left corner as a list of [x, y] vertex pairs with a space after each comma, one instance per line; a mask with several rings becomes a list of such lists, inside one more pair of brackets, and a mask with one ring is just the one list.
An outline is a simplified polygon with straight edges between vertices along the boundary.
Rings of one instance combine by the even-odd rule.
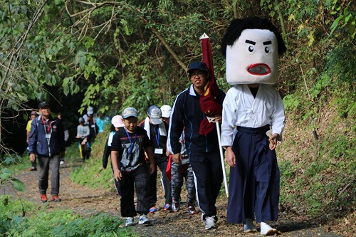
[[0, 205], [0, 234], [4, 236], [136, 236], [131, 228], [119, 228], [120, 218], [108, 214], [83, 218], [70, 210], [37, 209], [4, 195], [0, 203], [4, 204]]

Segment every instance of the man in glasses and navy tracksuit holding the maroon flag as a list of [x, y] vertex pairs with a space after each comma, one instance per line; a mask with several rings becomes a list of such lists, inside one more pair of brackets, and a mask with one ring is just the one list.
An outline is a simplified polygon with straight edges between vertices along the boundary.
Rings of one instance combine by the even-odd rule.
[[[199, 99], [204, 92], [204, 86], [209, 83], [209, 70], [205, 63], [195, 62], [188, 66], [188, 75], [192, 85], [180, 93], [173, 105], [169, 122], [168, 146], [173, 152], [172, 159], [176, 163], [182, 161], [182, 144], [179, 137], [184, 129], [184, 139], [187, 147], [189, 162], [195, 177], [197, 199], [202, 211], [205, 229], [216, 228], [216, 198], [219, 195], [223, 174], [219, 154], [219, 141], [216, 127], [207, 135], [199, 134], [201, 121], [206, 115], [201, 111]], [[219, 105], [225, 97], [222, 90], [216, 101]], [[214, 117], [214, 122], [221, 121], [221, 115]]]

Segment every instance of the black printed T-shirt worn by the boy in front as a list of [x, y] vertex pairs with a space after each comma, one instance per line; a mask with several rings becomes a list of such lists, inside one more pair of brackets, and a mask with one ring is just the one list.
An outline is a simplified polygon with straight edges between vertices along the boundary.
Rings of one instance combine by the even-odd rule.
[[150, 147], [150, 139], [142, 127], [136, 127], [135, 133], [125, 129], [118, 130], [112, 137], [111, 150], [119, 152], [117, 163], [122, 172], [133, 172], [145, 164], [144, 147]]

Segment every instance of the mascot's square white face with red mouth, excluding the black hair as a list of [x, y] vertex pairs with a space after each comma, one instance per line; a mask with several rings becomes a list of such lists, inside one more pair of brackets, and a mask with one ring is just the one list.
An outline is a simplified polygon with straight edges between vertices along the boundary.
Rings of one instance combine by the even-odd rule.
[[278, 44], [269, 30], [246, 29], [226, 47], [226, 81], [236, 84], [274, 84], [278, 79]]

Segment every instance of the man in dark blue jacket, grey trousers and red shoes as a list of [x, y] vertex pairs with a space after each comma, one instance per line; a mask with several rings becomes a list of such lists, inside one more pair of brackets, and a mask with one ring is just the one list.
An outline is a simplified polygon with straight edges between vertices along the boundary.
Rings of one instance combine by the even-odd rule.
[[59, 157], [65, 152], [63, 126], [51, 116], [51, 107], [47, 102], [38, 105], [40, 115], [32, 121], [28, 136], [28, 153], [31, 162], [38, 159], [38, 189], [42, 202], [46, 202], [48, 172], [51, 168], [51, 200], [59, 198]]

